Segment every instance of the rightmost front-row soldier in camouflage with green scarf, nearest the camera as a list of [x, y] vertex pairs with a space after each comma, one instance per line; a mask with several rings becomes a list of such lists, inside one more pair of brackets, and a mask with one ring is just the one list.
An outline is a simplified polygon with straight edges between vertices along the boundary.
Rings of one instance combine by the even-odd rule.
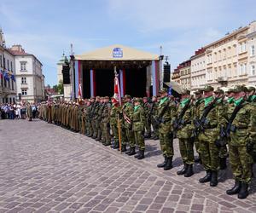
[[253, 161], [247, 145], [252, 141], [255, 142], [256, 113], [255, 106], [246, 101], [246, 87], [236, 86], [233, 92], [235, 93], [235, 100], [233, 101], [233, 107], [228, 109], [229, 119], [237, 106], [241, 106], [241, 108], [236, 112], [236, 117], [230, 127], [229, 156], [235, 186], [227, 190], [226, 193], [238, 193], [238, 199], [246, 199], [248, 184], [252, 180], [251, 165]]

